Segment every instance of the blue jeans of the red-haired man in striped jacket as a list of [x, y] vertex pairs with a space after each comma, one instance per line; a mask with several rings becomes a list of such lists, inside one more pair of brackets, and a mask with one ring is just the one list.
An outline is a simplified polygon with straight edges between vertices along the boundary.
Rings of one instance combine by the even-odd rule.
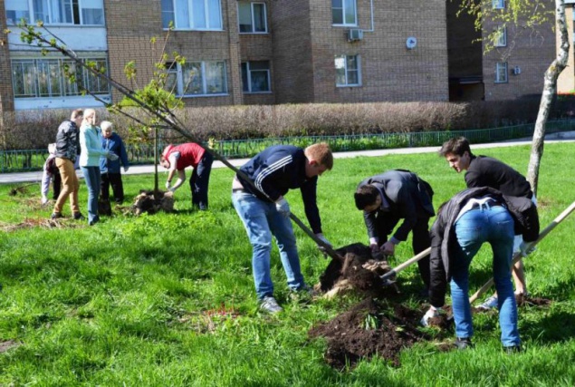
[[275, 203], [256, 198], [246, 192], [232, 194], [237, 215], [244, 222], [247, 237], [252, 244], [252, 268], [254, 270], [255, 293], [258, 299], [273, 295], [273, 283], [270, 275], [270, 254], [272, 252], [272, 235], [280, 249], [283, 270], [287, 283], [292, 290], [299, 290], [303, 282], [293, 235], [292, 221], [284, 218]]

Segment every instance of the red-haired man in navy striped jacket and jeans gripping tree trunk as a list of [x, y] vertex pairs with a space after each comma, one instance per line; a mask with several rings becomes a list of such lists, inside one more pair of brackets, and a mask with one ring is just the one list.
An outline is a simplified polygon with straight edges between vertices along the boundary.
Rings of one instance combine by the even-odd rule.
[[305, 150], [290, 145], [275, 145], [247, 161], [240, 168], [243, 173], [235, 176], [232, 201], [252, 244], [255, 292], [260, 308], [266, 312], [275, 314], [283, 310], [273, 297], [270, 275], [272, 236], [280, 249], [290, 289], [294, 292], [310, 291], [303, 281], [289, 218], [290, 206], [283, 196], [289, 189], [301, 190], [311, 230], [329, 245], [321, 231], [316, 188], [318, 176], [332, 167], [333, 156], [325, 143], [311, 145]]

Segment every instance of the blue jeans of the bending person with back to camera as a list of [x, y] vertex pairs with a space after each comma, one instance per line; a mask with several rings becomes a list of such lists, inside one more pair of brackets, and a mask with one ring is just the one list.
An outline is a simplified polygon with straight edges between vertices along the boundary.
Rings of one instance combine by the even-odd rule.
[[484, 242], [494, 252], [494, 284], [498, 295], [499, 324], [503, 346], [519, 345], [517, 305], [513, 295], [511, 267], [513, 258], [513, 218], [501, 206], [472, 209], [455, 222], [459, 247], [452, 259], [451, 298], [457, 337], [474, 333], [469, 305], [469, 265]]

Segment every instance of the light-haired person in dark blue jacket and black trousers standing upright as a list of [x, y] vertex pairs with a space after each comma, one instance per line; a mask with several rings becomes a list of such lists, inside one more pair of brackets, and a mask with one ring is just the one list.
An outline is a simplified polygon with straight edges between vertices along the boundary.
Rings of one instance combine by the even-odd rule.
[[112, 131], [110, 121], [101, 121], [100, 128], [102, 134], [101, 147], [120, 157], [119, 160], [110, 160], [107, 157], [100, 158], [101, 199], [110, 200], [111, 185], [114, 201], [116, 204], [122, 204], [124, 201], [124, 186], [121, 180], [120, 163], [124, 167], [124, 172], [128, 172], [128, 154], [120, 136]]

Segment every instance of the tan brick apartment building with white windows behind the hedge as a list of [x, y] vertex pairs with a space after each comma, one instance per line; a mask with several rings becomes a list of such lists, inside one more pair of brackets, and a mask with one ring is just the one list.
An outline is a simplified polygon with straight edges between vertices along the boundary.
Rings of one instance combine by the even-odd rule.
[[[455, 17], [446, 0], [0, 0], [0, 15], [0, 27], [14, 31], [0, 44], [2, 111], [101, 106], [62, 76], [62, 55], [21, 44], [22, 17], [42, 19], [131, 88], [149, 81], [172, 22], [166, 52], [187, 61], [167, 63], [169, 80], [188, 106], [514, 99], [541, 93], [555, 54], [550, 29], [536, 46], [529, 36], [513, 40], [509, 58], [503, 40], [483, 55], [471, 43], [473, 20]], [[134, 83], [124, 75], [129, 61]], [[77, 73], [102, 101], [120, 99]]]

